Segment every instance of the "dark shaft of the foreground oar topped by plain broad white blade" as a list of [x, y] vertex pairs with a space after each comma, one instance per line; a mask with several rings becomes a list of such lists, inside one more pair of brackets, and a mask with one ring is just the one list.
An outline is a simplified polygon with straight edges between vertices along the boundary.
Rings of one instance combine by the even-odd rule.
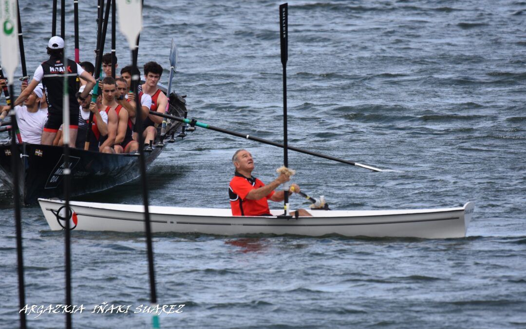
[[[134, 67], [133, 71], [137, 72], [137, 57], [134, 56], [134, 52], [131, 52], [131, 61]], [[132, 72], [133, 72], [132, 71]], [[144, 203], [144, 221], [146, 228], [146, 247], [148, 253], [148, 273], [150, 277], [150, 300], [151, 304], [157, 303], [157, 293], [155, 289], [155, 268], [154, 268], [154, 249], [151, 243], [151, 226], [150, 226], [150, 212], [148, 205], [148, 183], [146, 181], [146, 162], [144, 159], [144, 136], [143, 136], [143, 118], [141, 116], [140, 102], [139, 102], [139, 76], [136, 73], [131, 75], [131, 89], [135, 93], [135, 104], [137, 106], [136, 119], [135, 119], [135, 131], [139, 133], [139, 165], [140, 165], [140, 180], [143, 185], [143, 203]]]

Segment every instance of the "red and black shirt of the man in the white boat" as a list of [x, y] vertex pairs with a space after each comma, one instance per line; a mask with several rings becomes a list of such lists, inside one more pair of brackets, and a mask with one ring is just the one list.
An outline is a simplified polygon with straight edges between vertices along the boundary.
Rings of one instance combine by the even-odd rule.
[[250, 191], [263, 186], [265, 186], [265, 184], [256, 177], [251, 176], [250, 178], [247, 178], [236, 172], [228, 186], [232, 215], [260, 216], [270, 214], [267, 200], [274, 195], [274, 191], [259, 200], [248, 200], [246, 198]]

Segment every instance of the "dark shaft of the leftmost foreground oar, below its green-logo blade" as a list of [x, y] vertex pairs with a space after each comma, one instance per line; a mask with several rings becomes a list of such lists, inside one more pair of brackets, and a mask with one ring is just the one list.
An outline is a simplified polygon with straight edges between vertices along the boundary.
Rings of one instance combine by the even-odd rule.
[[[14, 95], [13, 83], [9, 84], [9, 92]], [[15, 201], [15, 230], [16, 230], [16, 257], [18, 261], [18, 303], [20, 305], [19, 310], [22, 310], [26, 305], [26, 292], [24, 285], [24, 257], [22, 251], [22, 216], [20, 210], [20, 172], [21, 159], [18, 155], [18, 145], [16, 144], [16, 132], [18, 131], [18, 124], [16, 122], [15, 111], [13, 109], [13, 103], [11, 103], [11, 125], [13, 126], [11, 134], [11, 168], [13, 171], [13, 194]], [[26, 312], [19, 312], [20, 316], [20, 327], [26, 327]]]

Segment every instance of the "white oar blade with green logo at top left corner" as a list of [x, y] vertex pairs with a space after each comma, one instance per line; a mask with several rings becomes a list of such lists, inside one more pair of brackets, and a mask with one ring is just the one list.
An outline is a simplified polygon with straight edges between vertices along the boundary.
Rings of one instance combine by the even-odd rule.
[[0, 55], [2, 68], [9, 83], [13, 83], [16, 67], [18, 66], [18, 17], [17, 1], [3, 0], [0, 5]]

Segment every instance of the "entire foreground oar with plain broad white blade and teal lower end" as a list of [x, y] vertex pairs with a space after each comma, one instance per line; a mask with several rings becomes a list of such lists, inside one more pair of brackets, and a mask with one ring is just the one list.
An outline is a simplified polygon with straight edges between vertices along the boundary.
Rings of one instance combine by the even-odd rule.
[[[137, 56], [138, 47], [136, 41], [140, 30], [143, 29], [143, 4], [138, 0], [117, 0], [117, 7], [119, 11], [119, 26], [120, 31], [126, 36], [128, 45], [131, 50], [131, 57], [133, 62], [132, 72], [137, 67]], [[134, 52], [136, 50], [136, 52]], [[139, 83], [139, 76], [133, 74], [131, 76], [131, 84], [135, 93], [135, 105], [136, 105], [136, 119], [135, 128], [139, 133], [139, 168], [140, 168], [140, 180], [143, 185], [143, 203], [144, 203], [144, 222], [146, 230], [146, 247], [148, 253], [148, 273], [150, 278], [150, 301], [151, 304], [157, 304], [157, 293], [155, 288], [155, 268], [154, 268], [154, 249], [151, 242], [151, 224], [150, 224], [150, 212], [148, 208], [148, 184], [146, 182], [146, 161], [144, 157], [144, 136], [143, 136], [143, 118], [140, 115], [140, 102], [139, 92], [137, 85]], [[157, 315], [153, 315], [152, 327], [159, 328], [159, 318]]]

